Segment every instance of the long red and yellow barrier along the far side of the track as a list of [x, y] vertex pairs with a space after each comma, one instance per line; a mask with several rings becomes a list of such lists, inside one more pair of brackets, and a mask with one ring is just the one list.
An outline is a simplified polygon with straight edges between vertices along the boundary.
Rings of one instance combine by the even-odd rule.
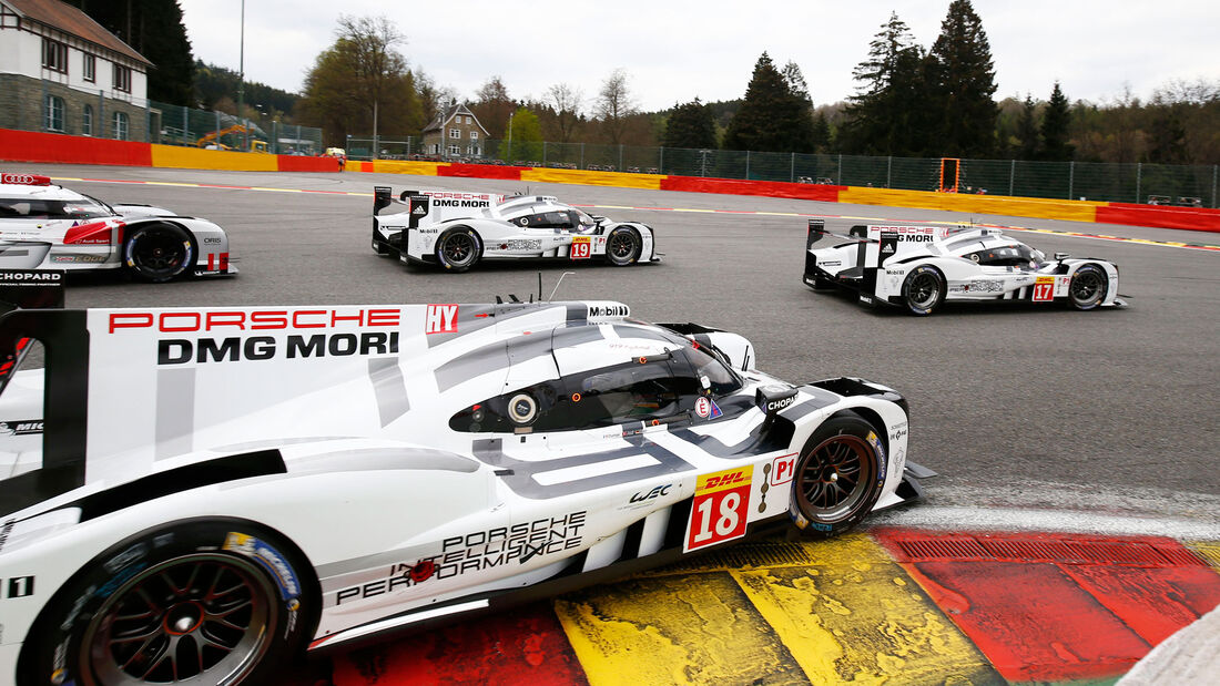
[[[122, 164], [134, 167], [171, 167], [178, 169], [233, 169], [251, 172], [336, 172], [332, 157], [300, 157], [259, 152], [200, 150], [73, 136], [38, 132], [0, 129], [0, 160], [12, 162], [56, 162], [73, 164]], [[458, 164], [395, 160], [349, 161], [349, 172], [412, 174], [425, 177], [464, 177], [531, 183], [601, 185], [647, 190], [675, 190], [726, 195], [791, 197], [852, 205], [884, 205], [921, 210], [948, 210], [975, 214], [1032, 217], [1069, 222], [1098, 222], [1220, 232], [1220, 210], [1202, 207], [1163, 207], [1122, 202], [1042, 200], [997, 195], [965, 195], [919, 190], [853, 188], [837, 185], [752, 182], [665, 174], [588, 172], [506, 167], [495, 164]], [[29, 169], [37, 172], [37, 169]]]

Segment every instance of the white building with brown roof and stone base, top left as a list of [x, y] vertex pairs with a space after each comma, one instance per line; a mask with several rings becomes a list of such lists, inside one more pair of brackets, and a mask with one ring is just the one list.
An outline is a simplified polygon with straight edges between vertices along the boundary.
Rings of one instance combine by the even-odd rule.
[[60, 0], [0, 0], [0, 128], [148, 140], [152, 63]]

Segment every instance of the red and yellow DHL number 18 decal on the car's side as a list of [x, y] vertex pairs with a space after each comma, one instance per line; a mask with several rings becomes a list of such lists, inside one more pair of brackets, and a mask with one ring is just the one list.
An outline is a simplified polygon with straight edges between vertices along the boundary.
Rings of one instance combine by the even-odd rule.
[[753, 475], [754, 465], [747, 464], [699, 476], [687, 524], [687, 551], [745, 535]]

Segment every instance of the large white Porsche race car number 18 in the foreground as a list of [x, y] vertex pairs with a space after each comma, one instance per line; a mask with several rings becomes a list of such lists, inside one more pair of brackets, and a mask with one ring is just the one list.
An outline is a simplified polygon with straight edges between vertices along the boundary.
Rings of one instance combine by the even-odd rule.
[[303, 647], [830, 536], [931, 475], [895, 391], [617, 302], [0, 317], [11, 359], [39, 346], [0, 394], [22, 685], [271, 684]]

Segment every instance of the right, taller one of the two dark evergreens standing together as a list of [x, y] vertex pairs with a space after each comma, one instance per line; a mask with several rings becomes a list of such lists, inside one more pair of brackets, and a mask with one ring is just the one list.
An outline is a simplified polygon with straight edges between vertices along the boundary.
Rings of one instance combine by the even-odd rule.
[[996, 71], [982, 19], [970, 0], [953, 0], [930, 56], [926, 105], [938, 113], [933, 140], [946, 157], [987, 157], [996, 150]]

